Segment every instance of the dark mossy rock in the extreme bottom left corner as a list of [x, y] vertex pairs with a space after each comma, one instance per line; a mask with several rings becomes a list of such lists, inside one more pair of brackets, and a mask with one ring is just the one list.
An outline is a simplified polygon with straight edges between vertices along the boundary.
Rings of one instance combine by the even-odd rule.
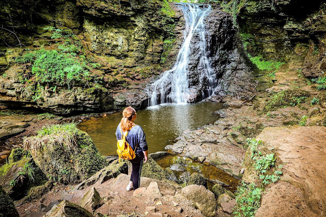
[[5, 192], [4, 188], [0, 185], [0, 217], [12, 216], [18, 217], [19, 214], [15, 205], [9, 195]]

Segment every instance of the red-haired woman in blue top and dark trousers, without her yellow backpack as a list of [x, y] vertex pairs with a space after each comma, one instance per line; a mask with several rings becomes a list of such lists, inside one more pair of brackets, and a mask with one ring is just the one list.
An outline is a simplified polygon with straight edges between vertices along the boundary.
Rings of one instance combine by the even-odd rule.
[[[124, 108], [122, 116], [123, 117], [115, 131], [116, 138], [117, 140], [122, 138], [121, 131], [123, 135], [126, 135], [128, 132], [126, 141], [136, 154], [134, 159], [129, 160], [133, 166], [130, 182], [127, 185], [127, 191], [129, 192], [132, 189], [137, 189], [140, 185], [141, 167], [143, 162], [145, 163], [148, 160], [148, 148], [144, 130], [134, 123], [134, 120], [137, 117], [135, 109], [131, 106]], [[143, 160], [144, 158], [145, 160]]]

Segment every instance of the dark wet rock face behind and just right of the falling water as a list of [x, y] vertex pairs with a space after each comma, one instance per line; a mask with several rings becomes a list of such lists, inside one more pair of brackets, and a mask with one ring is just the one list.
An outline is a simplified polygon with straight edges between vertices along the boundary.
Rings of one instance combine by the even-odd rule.
[[[250, 68], [238, 50], [237, 32], [232, 26], [232, 16], [221, 10], [212, 9], [205, 19], [206, 50], [217, 82], [216, 101], [225, 95], [247, 98], [254, 91]], [[209, 79], [203, 78], [200, 36], [194, 33], [190, 42], [188, 63], [189, 102], [197, 102], [208, 97]], [[234, 82], [236, 80], [237, 82]], [[171, 82], [164, 84], [165, 95], [171, 91]], [[151, 87], [148, 87], [151, 89]], [[204, 97], [203, 97], [204, 96]], [[158, 95], [160, 98], [160, 94]]]

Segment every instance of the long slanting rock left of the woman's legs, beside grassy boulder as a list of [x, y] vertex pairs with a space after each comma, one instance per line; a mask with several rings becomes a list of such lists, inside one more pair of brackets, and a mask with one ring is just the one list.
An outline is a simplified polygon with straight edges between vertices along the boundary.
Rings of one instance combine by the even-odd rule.
[[84, 189], [98, 180], [103, 183], [111, 178], [116, 178], [121, 173], [128, 174], [128, 165], [124, 161], [119, 162], [118, 160], [115, 160], [111, 165], [96, 172], [93, 176], [79, 183], [75, 188], [79, 190]]

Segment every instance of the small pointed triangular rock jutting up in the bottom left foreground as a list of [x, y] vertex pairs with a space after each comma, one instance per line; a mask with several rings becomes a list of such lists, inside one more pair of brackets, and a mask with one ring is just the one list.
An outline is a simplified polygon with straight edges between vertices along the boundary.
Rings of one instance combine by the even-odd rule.
[[95, 187], [92, 187], [82, 198], [78, 205], [87, 209], [90, 212], [93, 212], [99, 206], [104, 204], [102, 198], [99, 196], [99, 193], [96, 191]]

